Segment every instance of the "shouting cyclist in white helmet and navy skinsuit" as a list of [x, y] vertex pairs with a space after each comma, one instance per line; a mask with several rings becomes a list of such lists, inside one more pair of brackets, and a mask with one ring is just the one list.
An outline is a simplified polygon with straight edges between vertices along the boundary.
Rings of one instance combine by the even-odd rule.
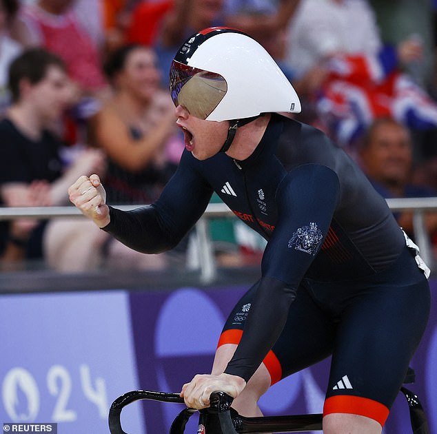
[[214, 191], [267, 239], [261, 279], [230, 314], [212, 374], [183, 386], [185, 403], [201, 409], [222, 390], [256, 415], [270, 384], [332, 355], [324, 433], [381, 433], [429, 316], [416, 246], [341, 148], [282, 115], [301, 110], [298, 96], [246, 34], [210, 28], [187, 39], [170, 92], [186, 149], [156, 203], [114, 209], [96, 175], [69, 194], [145, 253], [177, 245]]

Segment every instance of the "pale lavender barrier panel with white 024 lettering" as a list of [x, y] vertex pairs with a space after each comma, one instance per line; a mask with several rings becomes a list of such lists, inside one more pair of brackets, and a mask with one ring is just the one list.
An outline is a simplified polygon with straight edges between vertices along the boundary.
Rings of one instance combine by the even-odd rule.
[[[0, 296], [0, 425], [57, 422], [59, 434], [108, 434], [112, 401], [139, 388], [128, 298]], [[145, 433], [139, 406], [124, 420], [129, 433]]]

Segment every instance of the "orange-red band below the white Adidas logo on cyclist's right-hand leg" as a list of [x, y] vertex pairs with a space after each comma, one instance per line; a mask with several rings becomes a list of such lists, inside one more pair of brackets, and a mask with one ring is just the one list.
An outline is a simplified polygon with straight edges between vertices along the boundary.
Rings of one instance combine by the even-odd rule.
[[380, 402], [359, 396], [338, 395], [327, 398], [323, 406], [323, 416], [332, 413], [347, 413], [360, 415], [376, 420], [384, 426], [389, 415], [389, 409]]

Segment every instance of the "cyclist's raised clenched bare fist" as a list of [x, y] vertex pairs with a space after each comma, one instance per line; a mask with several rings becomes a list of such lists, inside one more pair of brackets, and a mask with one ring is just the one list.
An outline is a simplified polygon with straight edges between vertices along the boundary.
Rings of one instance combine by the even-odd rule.
[[108, 205], [106, 205], [106, 192], [101, 185], [99, 176], [81, 176], [68, 189], [70, 201], [81, 210], [99, 227], [110, 223]]

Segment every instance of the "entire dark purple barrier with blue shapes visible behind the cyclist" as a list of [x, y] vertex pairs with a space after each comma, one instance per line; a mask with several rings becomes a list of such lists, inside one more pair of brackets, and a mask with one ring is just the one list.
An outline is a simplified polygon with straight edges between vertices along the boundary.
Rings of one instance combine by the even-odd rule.
[[[435, 293], [437, 282], [432, 285]], [[131, 293], [132, 329], [141, 389], [179, 392], [196, 373], [209, 373], [223, 322], [246, 289], [181, 288], [168, 293]], [[437, 420], [435, 416], [431, 417], [431, 413], [437, 414], [437, 375], [433, 368], [436, 362], [437, 314], [433, 307], [427, 332], [411, 362], [416, 369], [416, 383], [409, 386], [418, 393], [427, 409], [431, 432], [437, 432]], [[329, 359], [275, 384], [260, 400], [263, 413], [321, 412], [328, 371]], [[181, 409], [180, 404], [143, 404], [147, 431], [167, 432]], [[384, 433], [410, 434], [409, 426], [407, 404], [405, 398], [399, 396]], [[194, 433], [195, 430], [193, 421], [185, 431]]]

